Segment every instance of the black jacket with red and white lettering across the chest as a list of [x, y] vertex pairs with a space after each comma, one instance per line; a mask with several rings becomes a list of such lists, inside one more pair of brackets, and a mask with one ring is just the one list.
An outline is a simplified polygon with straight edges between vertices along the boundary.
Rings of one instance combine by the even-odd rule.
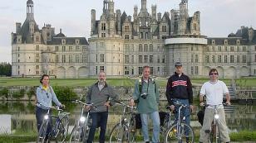
[[165, 95], [170, 105], [173, 105], [171, 100], [173, 98], [189, 99], [190, 104], [192, 104], [193, 91], [190, 78], [185, 74], [181, 74], [179, 77], [179, 74], [175, 72], [175, 74], [168, 79]]

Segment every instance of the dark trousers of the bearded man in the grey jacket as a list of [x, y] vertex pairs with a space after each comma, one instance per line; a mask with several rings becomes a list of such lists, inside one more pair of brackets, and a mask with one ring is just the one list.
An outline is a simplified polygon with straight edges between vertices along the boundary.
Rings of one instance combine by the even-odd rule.
[[108, 112], [91, 112], [90, 116], [91, 116], [92, 123], [91, 123], [91, 128], [90, 128], [87, 143], [91, 143], [93, 141], [97, 127], [101, 127], [99, 142], [104, 143]]

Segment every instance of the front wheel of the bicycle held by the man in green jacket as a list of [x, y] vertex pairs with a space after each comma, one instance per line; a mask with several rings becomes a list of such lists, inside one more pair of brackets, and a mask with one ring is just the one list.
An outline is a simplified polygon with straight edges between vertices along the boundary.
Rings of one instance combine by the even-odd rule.
[[111, 131], [110, 143], [115, 141], [117, 143], [129, 142], [129, 129], [126, 124], [121, 125], [120, 123], [116, 124]]

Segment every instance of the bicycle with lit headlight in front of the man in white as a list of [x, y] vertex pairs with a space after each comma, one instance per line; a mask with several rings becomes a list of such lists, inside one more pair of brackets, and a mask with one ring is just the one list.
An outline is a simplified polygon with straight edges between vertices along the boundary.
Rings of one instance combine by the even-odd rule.
[[208, 142], [209, 143], [220, 143], [221, 139], [219, 137], [219, 107], [223, 107], [227, 105], [226, 103], [219, 104], [219, 105], [204, 105], [205, 107], [213, 107], [214, 108], [214, 120], [211, 124], [211, 128], [209, 130], [205, 130], [205, 133], [209, 134]]

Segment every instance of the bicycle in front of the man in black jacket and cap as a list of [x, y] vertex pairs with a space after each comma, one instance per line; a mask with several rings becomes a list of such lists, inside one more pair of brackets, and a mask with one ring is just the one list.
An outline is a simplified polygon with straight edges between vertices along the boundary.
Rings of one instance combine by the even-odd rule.
[[175, 123], [167, 130], [165, 134], [165, 143], [194, 142], [194, 131], [192, 127], [185, 123], [185, 117], [181, 118], [181, 109], [189, 106], [179, 101], [174, 101], [174, 103], [179, 107], [178, 119], [176, 119], [177, 121], [175, 121]]

